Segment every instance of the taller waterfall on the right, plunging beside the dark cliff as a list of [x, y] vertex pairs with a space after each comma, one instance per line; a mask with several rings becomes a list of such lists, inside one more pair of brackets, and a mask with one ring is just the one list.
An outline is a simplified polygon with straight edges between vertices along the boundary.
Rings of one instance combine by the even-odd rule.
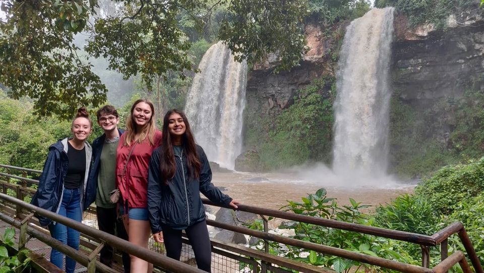
[[346, 29], [336, 75], [336, 174], [386, 174], [393, 11], [372, 9]]

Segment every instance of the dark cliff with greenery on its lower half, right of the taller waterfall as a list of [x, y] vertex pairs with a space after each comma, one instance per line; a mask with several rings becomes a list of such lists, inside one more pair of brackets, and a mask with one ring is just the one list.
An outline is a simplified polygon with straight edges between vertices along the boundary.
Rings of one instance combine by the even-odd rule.
[[[447, 25], [409, 29], [404, 16], [395, 17], [391, 172], [418, 177], [484, 151], [476, 133], [482, 130], [479, 114], [473, 114], [479, 113], [484, 93], [482, 10], [476, 4], [450, 16]], [[403, 121], [396, 108], [406, 108], [413, 118]], [[428, 166], [415, 171], [422, 162]]]

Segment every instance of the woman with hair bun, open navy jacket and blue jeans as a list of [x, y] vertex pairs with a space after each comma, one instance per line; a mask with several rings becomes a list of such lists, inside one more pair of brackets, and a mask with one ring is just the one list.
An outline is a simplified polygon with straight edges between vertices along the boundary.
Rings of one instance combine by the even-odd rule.
[[[81, 222], [82, 211], [90, 199], [86, 191], [92, 149], [87, 138], [92, 131], [92, 121], [85, 107], [79, 108], [72, 121], [72, 138], [65, 138], [50, 145], [47, 160], [39, 179], [39, 187], [31, 203]], [[60, 168], [59, 168], [60, 167]], [[68, 246], [79, 250], [79, 231], [38, 216], [40, 225], [47, 226], [50, 235]], [[62, 269], [64, 254], [54, 248], [50, 262]], [[66, 272], [73, 273], [76, 261], [66, 257]]]

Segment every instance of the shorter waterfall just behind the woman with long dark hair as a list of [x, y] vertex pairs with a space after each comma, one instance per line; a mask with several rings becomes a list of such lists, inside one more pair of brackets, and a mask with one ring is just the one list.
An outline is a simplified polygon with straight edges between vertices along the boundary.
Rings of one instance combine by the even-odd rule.
[[205, 53], [199, 68], [202, 73], [193, 79], [185, 112], [208, 159], [233, 170], [242, 147], [247, 64], [235, 62], [231, 51], [218, 42]]

